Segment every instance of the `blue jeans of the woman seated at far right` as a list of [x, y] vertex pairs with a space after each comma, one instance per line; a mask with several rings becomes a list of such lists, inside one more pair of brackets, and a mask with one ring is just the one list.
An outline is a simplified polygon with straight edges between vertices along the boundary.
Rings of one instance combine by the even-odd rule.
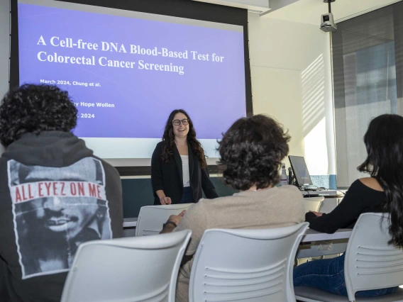
[[[294, 268], [294, 286], [309, 286], [340, 296], [347, 296], [344, 280], [344, 254], [332, 259], [314, 260]], [[383, 296], [397, 291], [397, 287], [389, 289], [373, 289], [358, 291], [356, 297]]]

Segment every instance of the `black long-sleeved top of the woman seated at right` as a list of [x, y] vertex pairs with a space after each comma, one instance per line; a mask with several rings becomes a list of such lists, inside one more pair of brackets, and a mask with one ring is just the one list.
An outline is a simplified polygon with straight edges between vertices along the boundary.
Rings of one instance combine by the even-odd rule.
[[357, 179], [331, 213], [316, 217], [314, 213], [308, 212], [305, 220], [309, 222], [309, 228], [333, 234], [339, 228], [353, 228], [362, 213], [380, 212], [380, 204], [385, 197], [385, 192], [371, 189]]

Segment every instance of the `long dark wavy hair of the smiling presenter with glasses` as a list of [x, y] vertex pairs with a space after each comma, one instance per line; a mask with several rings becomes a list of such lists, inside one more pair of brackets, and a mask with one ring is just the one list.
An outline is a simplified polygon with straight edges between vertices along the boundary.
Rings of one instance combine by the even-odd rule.
[[187, 133], [187, 144], [190, 146], [190, 150], [192, 150], [193, 155], [199, 159], [201, 169], [205, 169], [207, 167], [207, 163], [203, 147], [201, 147], [199, 140], [196, 139], [196, 130], [194, 130], [192, 120], [189, 118], [189, 114], [187, 114], [187, 112], [184, 111], [183, 109], [175, 109], [174, 111], [171, 112], [170, 116], [167, 119], [164, 135], [162, 136], [162, 141], [164, 142], [164, 145], [162, 145], [161, 160], [162, 162], [167, 163], [174, 156], [173, 147], [175, 146], [175, 134], [172, 121], [175, 117], [175, 114], [177, 113], [183, 113], [189, 120], [189, 133]]

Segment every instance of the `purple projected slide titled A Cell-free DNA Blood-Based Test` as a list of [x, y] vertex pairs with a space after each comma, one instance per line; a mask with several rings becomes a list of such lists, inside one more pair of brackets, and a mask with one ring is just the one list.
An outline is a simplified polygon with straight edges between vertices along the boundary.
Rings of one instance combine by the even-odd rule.
[[82, 138], [161, 138], [183, 108], [197, 138], [246, 115], [243, 33], [18, 4], [20, 84], [56, 84]]

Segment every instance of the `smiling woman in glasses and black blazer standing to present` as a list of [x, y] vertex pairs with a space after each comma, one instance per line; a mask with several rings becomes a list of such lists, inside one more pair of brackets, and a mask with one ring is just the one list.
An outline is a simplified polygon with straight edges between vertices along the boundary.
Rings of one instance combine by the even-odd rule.
[[196, 203], [218, 197], [211, 183], [206, 157], [186, 111], [174, 110], [151, 159], [154, 204]]

